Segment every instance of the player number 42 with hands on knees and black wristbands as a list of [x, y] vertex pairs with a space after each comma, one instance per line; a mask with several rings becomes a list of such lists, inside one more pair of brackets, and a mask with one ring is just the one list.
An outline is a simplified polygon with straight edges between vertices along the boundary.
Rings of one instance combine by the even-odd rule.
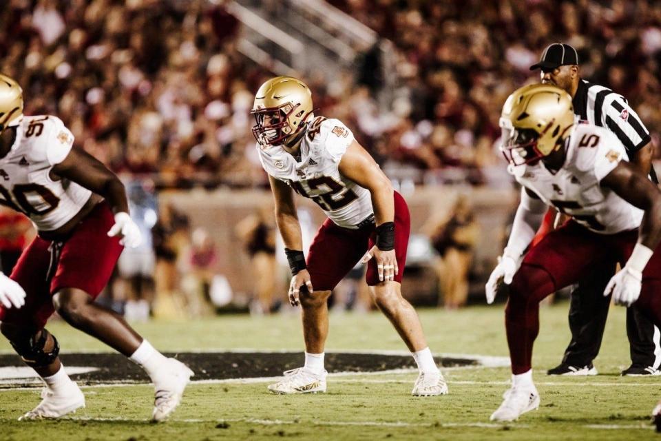
[[[269, 386], [273, 393], [326, 391], [324, 345], [330, 291], [361, 260], [376, 305], [386, 314], [419, 367], [414, 396], [448, 393], [415, 309], [401, 296], [410, 231], [408, 207], [373, 158], [337, 119], [313, 115], [302, 81], [266, 81], [253, 110], [253, 134], [275, 198], [275, 218], [292, 278], [289, 300], [301, 305], [305, 365]], [[304, 257], [293, 191], [311, 198], [328, 219]]]

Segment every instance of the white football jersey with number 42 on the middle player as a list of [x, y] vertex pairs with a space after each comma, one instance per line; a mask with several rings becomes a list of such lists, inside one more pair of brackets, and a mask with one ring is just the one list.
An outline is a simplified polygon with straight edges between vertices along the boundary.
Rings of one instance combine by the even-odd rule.
[[266, 173], [311, 198], [340, 227], [356, 229], [373, 216], [370, 192], [337, 169], [353, 133], [337, 119], [318, 116], [308, 123], [300, 161], [279, 145], [257, 145]]

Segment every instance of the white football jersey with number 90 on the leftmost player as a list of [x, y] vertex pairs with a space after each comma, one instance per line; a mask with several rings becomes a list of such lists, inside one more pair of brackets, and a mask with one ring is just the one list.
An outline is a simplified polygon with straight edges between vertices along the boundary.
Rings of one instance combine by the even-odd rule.
[[25, 116], [10, 152], [0, 159], [0, 203], [24, 213], [39, 231], [58, 229], [73, 218], [92, 192], [50, 170], [64, 161], [74, 136], [56, 116]]

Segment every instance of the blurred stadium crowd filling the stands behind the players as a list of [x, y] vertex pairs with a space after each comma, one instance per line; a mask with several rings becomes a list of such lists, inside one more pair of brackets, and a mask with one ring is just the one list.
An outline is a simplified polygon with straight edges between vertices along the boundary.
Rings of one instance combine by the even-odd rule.
[[[28, 114], [57, 114], [79, 147], [117, 172], [156, 176], [158, 187], [266, 184], [248, 112], [271, 72], [238, 52], [240, 22], [224, 1], [8, 3], [0, 71], [23, 85]], [[536, 81], [528, 67], [554, 41], [574, 45], [583, 76], [625, 94], [658, 137], [661, 3], [330, 3], [392, 42], [394, 99], [377, 104], [376, 50], [333, 84], [318, 72], [305, 79], [320, 112], [345, 119], [386, 170], [459, 168], [460, 180], [491, 183], [503, 170], [501, 104]]]

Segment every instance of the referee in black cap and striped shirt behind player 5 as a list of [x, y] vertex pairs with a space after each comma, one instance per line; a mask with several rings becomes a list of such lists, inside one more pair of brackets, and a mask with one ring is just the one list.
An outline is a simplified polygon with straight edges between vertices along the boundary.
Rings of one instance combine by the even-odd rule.
[[[653, 151], [649, 131], [622, 95], [580, 78], [576, 49], [568, 44], [553, 43], [544, 50], [540, 61], [530, 67], [530, 70], [536, 69], [541, 69], [542, 83], [556, 85], [573, 97], [574, 113], [581, 120], [613, 132], [627, 149], [631, 164], [658, 183], [651, 167]], [[615, 272], [615, 259], [595, 266], [571, 293], [571, 342], [563, 361], [550, 369], [549, 375], [596, 375], [592, 362], [599, 353], [611, 302], [603, 293]], [[640, 314], [635, 303], [627, 308], [627, 337], [631, 366], [622, 371], [622, 375], [659, 375], [659, 329]]]

